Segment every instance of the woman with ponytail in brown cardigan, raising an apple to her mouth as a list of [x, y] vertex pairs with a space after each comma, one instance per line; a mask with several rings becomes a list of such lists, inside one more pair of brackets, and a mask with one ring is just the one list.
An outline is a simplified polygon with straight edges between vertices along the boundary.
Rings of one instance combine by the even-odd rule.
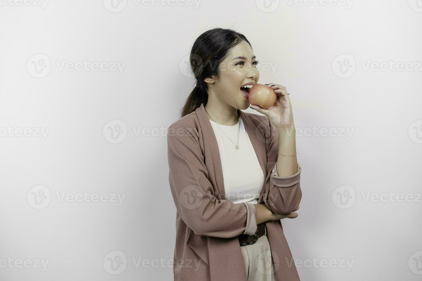
[[192, 46], [196, 86], [167, 138], [174, 280], [300, 280], [280, 221], [297, 217], [302, 198], [292, 107], [286, 88], [269, 83], [273, 107], [241, 111], [257, 63], [231, 29], [208, 30]]

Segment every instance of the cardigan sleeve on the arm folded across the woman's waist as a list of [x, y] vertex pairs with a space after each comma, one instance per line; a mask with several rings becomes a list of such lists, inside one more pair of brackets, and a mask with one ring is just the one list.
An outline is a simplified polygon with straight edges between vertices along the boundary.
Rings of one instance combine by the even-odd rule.
[[214, 196], [197, 134], [179, 120], [170, 125], [167, 144], [170, 190], [186, 225], [199, 236], [254, 235], [257, 224], [253, 204], [236, 204]]

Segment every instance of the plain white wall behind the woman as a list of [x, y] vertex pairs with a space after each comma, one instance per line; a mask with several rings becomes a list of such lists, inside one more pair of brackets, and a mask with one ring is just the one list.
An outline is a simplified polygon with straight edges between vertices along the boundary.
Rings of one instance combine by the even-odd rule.
[[[173, 280], [166, 128], [214, 27], [291, 93], [303, 198], [282, 223], [301, 280], [422, 278], [422, 2], [261, 2], [0, 1], [0, 280]], [[411, 69], [366, 68], [390, 60]]]

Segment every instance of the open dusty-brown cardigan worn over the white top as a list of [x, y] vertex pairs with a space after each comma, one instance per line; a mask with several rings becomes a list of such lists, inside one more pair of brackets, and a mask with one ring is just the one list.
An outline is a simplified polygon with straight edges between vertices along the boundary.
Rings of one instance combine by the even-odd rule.
[[[300, 165], [296, 174], [279, 177], [277, 129], [266, 116], [238, 112], [265, 178], [258, 203], [280, 214], [298, 210]], [[225, 200], [218, 143], [203, 104], [170, 125], [167, 143], [170, 190], [177, 209], [174, 280], [246, 281], [237, 236], [256, 229], [255, 217], [251, 218], [256, 210], [252, 204]], [[281, 220], [265, 226], [277, 280], [300, 281]]]

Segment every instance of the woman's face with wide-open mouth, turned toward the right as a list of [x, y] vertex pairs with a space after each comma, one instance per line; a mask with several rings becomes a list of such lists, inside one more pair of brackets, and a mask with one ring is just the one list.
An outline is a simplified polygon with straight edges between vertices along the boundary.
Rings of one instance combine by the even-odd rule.
[[[240, 58], [239, 58], [240, 57]], [[241, 41], [233, 47], [219, 66], [220, 78], [215, 80], [208, 92], [220, 101], [237, 109], [249, 107], [249, 99], [241, 92], [246, 83], [258, 83], [260, 72], [251, 46]], [[249, 91], [249, 89], [248, 89]]]

